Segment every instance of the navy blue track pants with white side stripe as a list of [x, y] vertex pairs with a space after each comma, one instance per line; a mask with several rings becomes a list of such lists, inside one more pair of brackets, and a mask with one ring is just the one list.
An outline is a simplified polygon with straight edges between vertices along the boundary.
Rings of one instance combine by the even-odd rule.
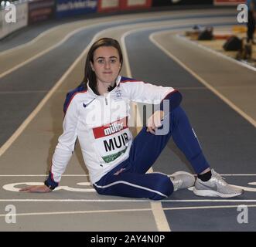
[[169, 177], [161, 173], [145, 173], [166, 147], [170, 137], [183, 151], [196, 174], [209, 167], [183, 109], [176, 107], [166, 117], [169, 117], [170, 125], [168, 134], [151, 134], [146, 131], [147, 127], [143, 127], [131, 145], [128, 159], [94, 184], [99, 194], [152, 200], [168, 198], [173, 191]]

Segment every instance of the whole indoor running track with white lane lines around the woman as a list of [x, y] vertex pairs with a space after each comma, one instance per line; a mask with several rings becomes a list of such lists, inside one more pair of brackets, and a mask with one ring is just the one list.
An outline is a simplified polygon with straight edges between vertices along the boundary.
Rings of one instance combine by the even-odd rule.
[[[26, 29], [31, 40], [19, 32], [12, 42], [1, 41], [0, 230], [254, 231], [255, 71], [182, 36], [195, 24], [230, 29], [235, 14], [193, 10], [116, 15], [58, 23], [41, 33]], [[183, 93], [183, 108], [208, 161], [228, 182], [244, 187], [244, 195], [200, 198], [183, 190], [162, 201], [97, 195], [79, 148], [59, 189], [43, 195], [18, 191], [46, 178], [62, 131], [63, 100], [83, 78], [87, 47], [103, 36], [121, 42], [122, 75]], [[192, 171], [172, 140], [152, 168], [166, 174]], [[15, 224], [5, 222], [7, 205], [16, 208]], [[247, 205], [248, 222], [237, 221], [239, 205]]]

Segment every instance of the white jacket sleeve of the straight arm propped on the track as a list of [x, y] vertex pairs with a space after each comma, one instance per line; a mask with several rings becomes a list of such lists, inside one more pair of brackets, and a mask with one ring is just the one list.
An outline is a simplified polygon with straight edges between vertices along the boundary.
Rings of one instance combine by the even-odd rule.
[[63, 134], [58, 139], [58, 144], [53, 154], [52, 166], [49, 171], [47, 183], [56, 188], [61, 175], [66, 170], [70, 157], [73, 154], [77, 140], [78, 107], [76, 100], [70, 101], [63, 120]]

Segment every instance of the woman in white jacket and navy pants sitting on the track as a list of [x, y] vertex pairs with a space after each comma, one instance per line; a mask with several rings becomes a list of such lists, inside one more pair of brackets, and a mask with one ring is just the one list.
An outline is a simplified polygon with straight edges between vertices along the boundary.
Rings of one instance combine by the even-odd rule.
[[[182, 96], [172, 87], [154, 86], [119, 76], [123, 57], [118, 41], [103, 38], [91, 46], [83, 83], [67, 94], [63, 134], [59, 138], [45, 185], [20, 191], [49, 192], [59, 185], [78, 138], [90, 182], [102, 195], [160, 200], [173, 191], [195, 186], [200, 196], [235, 197], [242, 190], [210, 169], [186, 113]], [[129, 100], [158, 103], [134, 140], [128, 128]], [[197, 174], [167, 176], [146, 171], [172, 137]]]

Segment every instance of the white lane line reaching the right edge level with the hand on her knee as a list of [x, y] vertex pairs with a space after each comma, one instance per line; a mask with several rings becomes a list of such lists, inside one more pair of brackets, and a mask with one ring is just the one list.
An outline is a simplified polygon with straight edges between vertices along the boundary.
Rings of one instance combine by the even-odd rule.
[[[162, 31], [163, 32], [163, 31]], [[230, 100], [228, 100], [223, 94], [221, 94], [218, 90], [216, 90], [213, 86], [211, 86], [209, 83], [207, 83], [206, 80], [203, 80], [202, 77], [200, 77], [198, 74], [193, 72], [192, 69], [189, 69], [188, 66], [186, 66], [183, 62], [181, 62], [179, 59], [176, 58], [176, 56], [173, 56], [171, 52], [169, 52], [166, 48], [161, 46], [159, 42], [157, 42], [154, 39], [154, 36], [159, 34], [160, 32], [154, 32], [149, 36], [149, 39], [152, 41], [155, 46], [157, 46], [159, 49], [162, 50], [162, 52], [165, 52], [167, 56], [169, 56], [171, 59], [176, 61], [180, 66], [183, 67], [183, 69], [186, 69], [192, 76], [194, 76], [200, 83], [202, 83], [204, 86], [207, 86], [209, 90], [211, 90], [213, 93], [215, 93], [221, 100], [223, 100], [225, 103], [227, 103], [228, 106], [230, 106], [233, 110], [235, 110], [237, 113], [239, 113], [244, 119], [246, 119], [249, 123], [251, 123], [254, 127], [256, 127], [256, 121], [247, 115], [247, 113], [244, 113], [243, 110], [241, 110], [239, 107], [237, 107], [234, 103], [232, 103]]]

